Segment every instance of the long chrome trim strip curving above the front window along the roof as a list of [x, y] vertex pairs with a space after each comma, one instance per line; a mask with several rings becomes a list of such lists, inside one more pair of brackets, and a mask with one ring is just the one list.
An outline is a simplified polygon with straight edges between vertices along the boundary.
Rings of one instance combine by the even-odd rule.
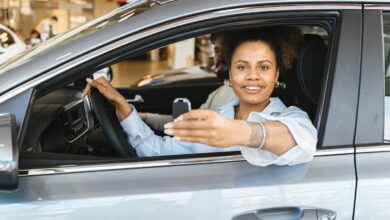
[[84, 63], [88, 60], [92, 60], [95, 57], [100, 56], [101, 54], [106, 53], [107, 51], [112, 51], [117, 48], [120, 48], [126, 44], [129, 44], [129, 42], [134, 42], [140, 39], [145, 38], [146, 36], [150, 36], [156, 33], [159, 33], [161, 31], [170, 29], [170, 28], [176, 28], [179, 26], [183, 26], [186, 24], [204, 21], [207, 19], [213, 19], [213, 18], [220, 18], [220, 17], [226, 17], [226, 16], [235, 16], [235, 15], [241, 15], [241, 14], [251, 14], [251, 13], [261, 13], [261, 12], [275, 12], [275, 11], [306, 11], [306, 10], [344, 10], [344, 9], [361, 9], [360, 4], [354, 4], [354, 3], [345, 3], [345, 4], [326, 4], [326, 3], [320, 3], [320, 4], [286, 4], [283, 6], [280, 5], [260, 5], [260, 6], [253, 6], [253, 7], [243, 7], [243, 8], [236, 8], [236, 9], [227, 9], [227, 10], [221, 10], [216, 12], [209, 12], [204, 13], [200, 15], [194, 15], [191, 17], [186, 17], [183, 19], [179, 19], [175, 22], [167, 22], [166, 24], [147, 29], [145, 31], [142, 31], [140, 33], [131, 35], [127, 38], [118, 40], [112, 44], [109, 44], [107, 46], [104, 46], [102, 48], [96, 49], [82, 57], [76, 58], [74, 60], [69, 61], [68, 63], [62, 65], [61, 67], [58, 67], [46, 74], [43, 74], [31, 81], [26, 82], [25, 84], [22, 84], [11, 91], [8, 91], [4, 95], [0, 97], [0, 103], [3, 103], [7, 101], [8, 99], [21, 94], [22, 92], [33, 88], [42, 82], [49, 80], [64, 71], [68, 71], [71, 68], [74, 68], [81, 63]]

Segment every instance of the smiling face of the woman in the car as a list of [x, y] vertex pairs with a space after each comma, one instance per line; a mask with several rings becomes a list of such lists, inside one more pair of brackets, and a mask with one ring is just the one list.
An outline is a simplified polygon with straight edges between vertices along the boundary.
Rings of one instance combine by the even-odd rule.
[[241, 103], [268, 103], [278, 76], [276, 56], [263, 41], [244, 42], [234, 51], [230, 80]]

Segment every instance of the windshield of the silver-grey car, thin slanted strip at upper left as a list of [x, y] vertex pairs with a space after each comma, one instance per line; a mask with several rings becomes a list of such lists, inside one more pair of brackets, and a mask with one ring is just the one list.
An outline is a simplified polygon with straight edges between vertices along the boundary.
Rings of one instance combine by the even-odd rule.
[[68, 32], [53, 37], [40, 45], [33, 47], [19, 55], [8, 59], [0, 64], [0, 75], [15, 66], [28, 62], [39, 54], [53, 50], [61, 45], [68, 44], [71, 41], [77, 40], [81, 37], [94, 33], [98, 30], [104, 29], [111, 24], [118, 23], [140, 14], [156, 5], [162, 4], [161, 1], [153, 0], [133, 0], [123, 7], [120, 7], [102, 17], [85, 23]]

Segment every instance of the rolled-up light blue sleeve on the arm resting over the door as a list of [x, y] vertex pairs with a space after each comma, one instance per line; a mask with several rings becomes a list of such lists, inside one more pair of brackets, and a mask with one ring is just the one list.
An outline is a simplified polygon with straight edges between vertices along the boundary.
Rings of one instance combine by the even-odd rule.
[[317, 145], [317, 130], [306, 112], [291, 106], [277, 116], [262, 113], [251, 113], [249, 121], [279, 121], [287, 126], [297, 145], [278, 156], [265, 150], [241, 147], [243, 157], [257, 166], [295, 165], [313, 159]]

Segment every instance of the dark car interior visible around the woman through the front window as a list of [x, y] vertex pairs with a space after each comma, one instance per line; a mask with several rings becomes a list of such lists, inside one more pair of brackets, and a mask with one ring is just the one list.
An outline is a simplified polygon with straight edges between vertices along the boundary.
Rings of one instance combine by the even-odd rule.
[[[273, 95], [278, 96], [286, 106], [294, 105], [306, 111], [316, 126], [328, 62], [329, 34], [326, 28], [320, 26], [295, 26], [302, 30], [303, 42], [294, 67], [280, 76], [280, 81], [285, 86], [275, 89]], [[123, 59], [116, 62], [122, 61]], [[116, 76], [112, 66], [111, 63], [107, 65], [105, 72], [111, 79]], [[83, 77], [74, 79], [66, 85], [35, 93], [21, 147], [22, 159], [19, 165], [21, 169], [183, 157], [183, 155], [137, 157], [120, 127], [113, 106], [96, 91], [92, 92], [90, 97], [82, 96], [86, 85], [85, 78], [94, 77], [91, 71], [86, 71], [82, 75]], [[172, 102], [175, 98], [185, 97], [191, 101], [193, 109], [199, 108], [224, 80], [218, 77], [195, 79], [184, 77], [161, 85], [129, 85], [117, 89], [138, 112], [172, 114]], [[164, 135], [157, 130], [154, 131], [157, 135]], [[197, 156], [199, 155], [184, 157]]]

